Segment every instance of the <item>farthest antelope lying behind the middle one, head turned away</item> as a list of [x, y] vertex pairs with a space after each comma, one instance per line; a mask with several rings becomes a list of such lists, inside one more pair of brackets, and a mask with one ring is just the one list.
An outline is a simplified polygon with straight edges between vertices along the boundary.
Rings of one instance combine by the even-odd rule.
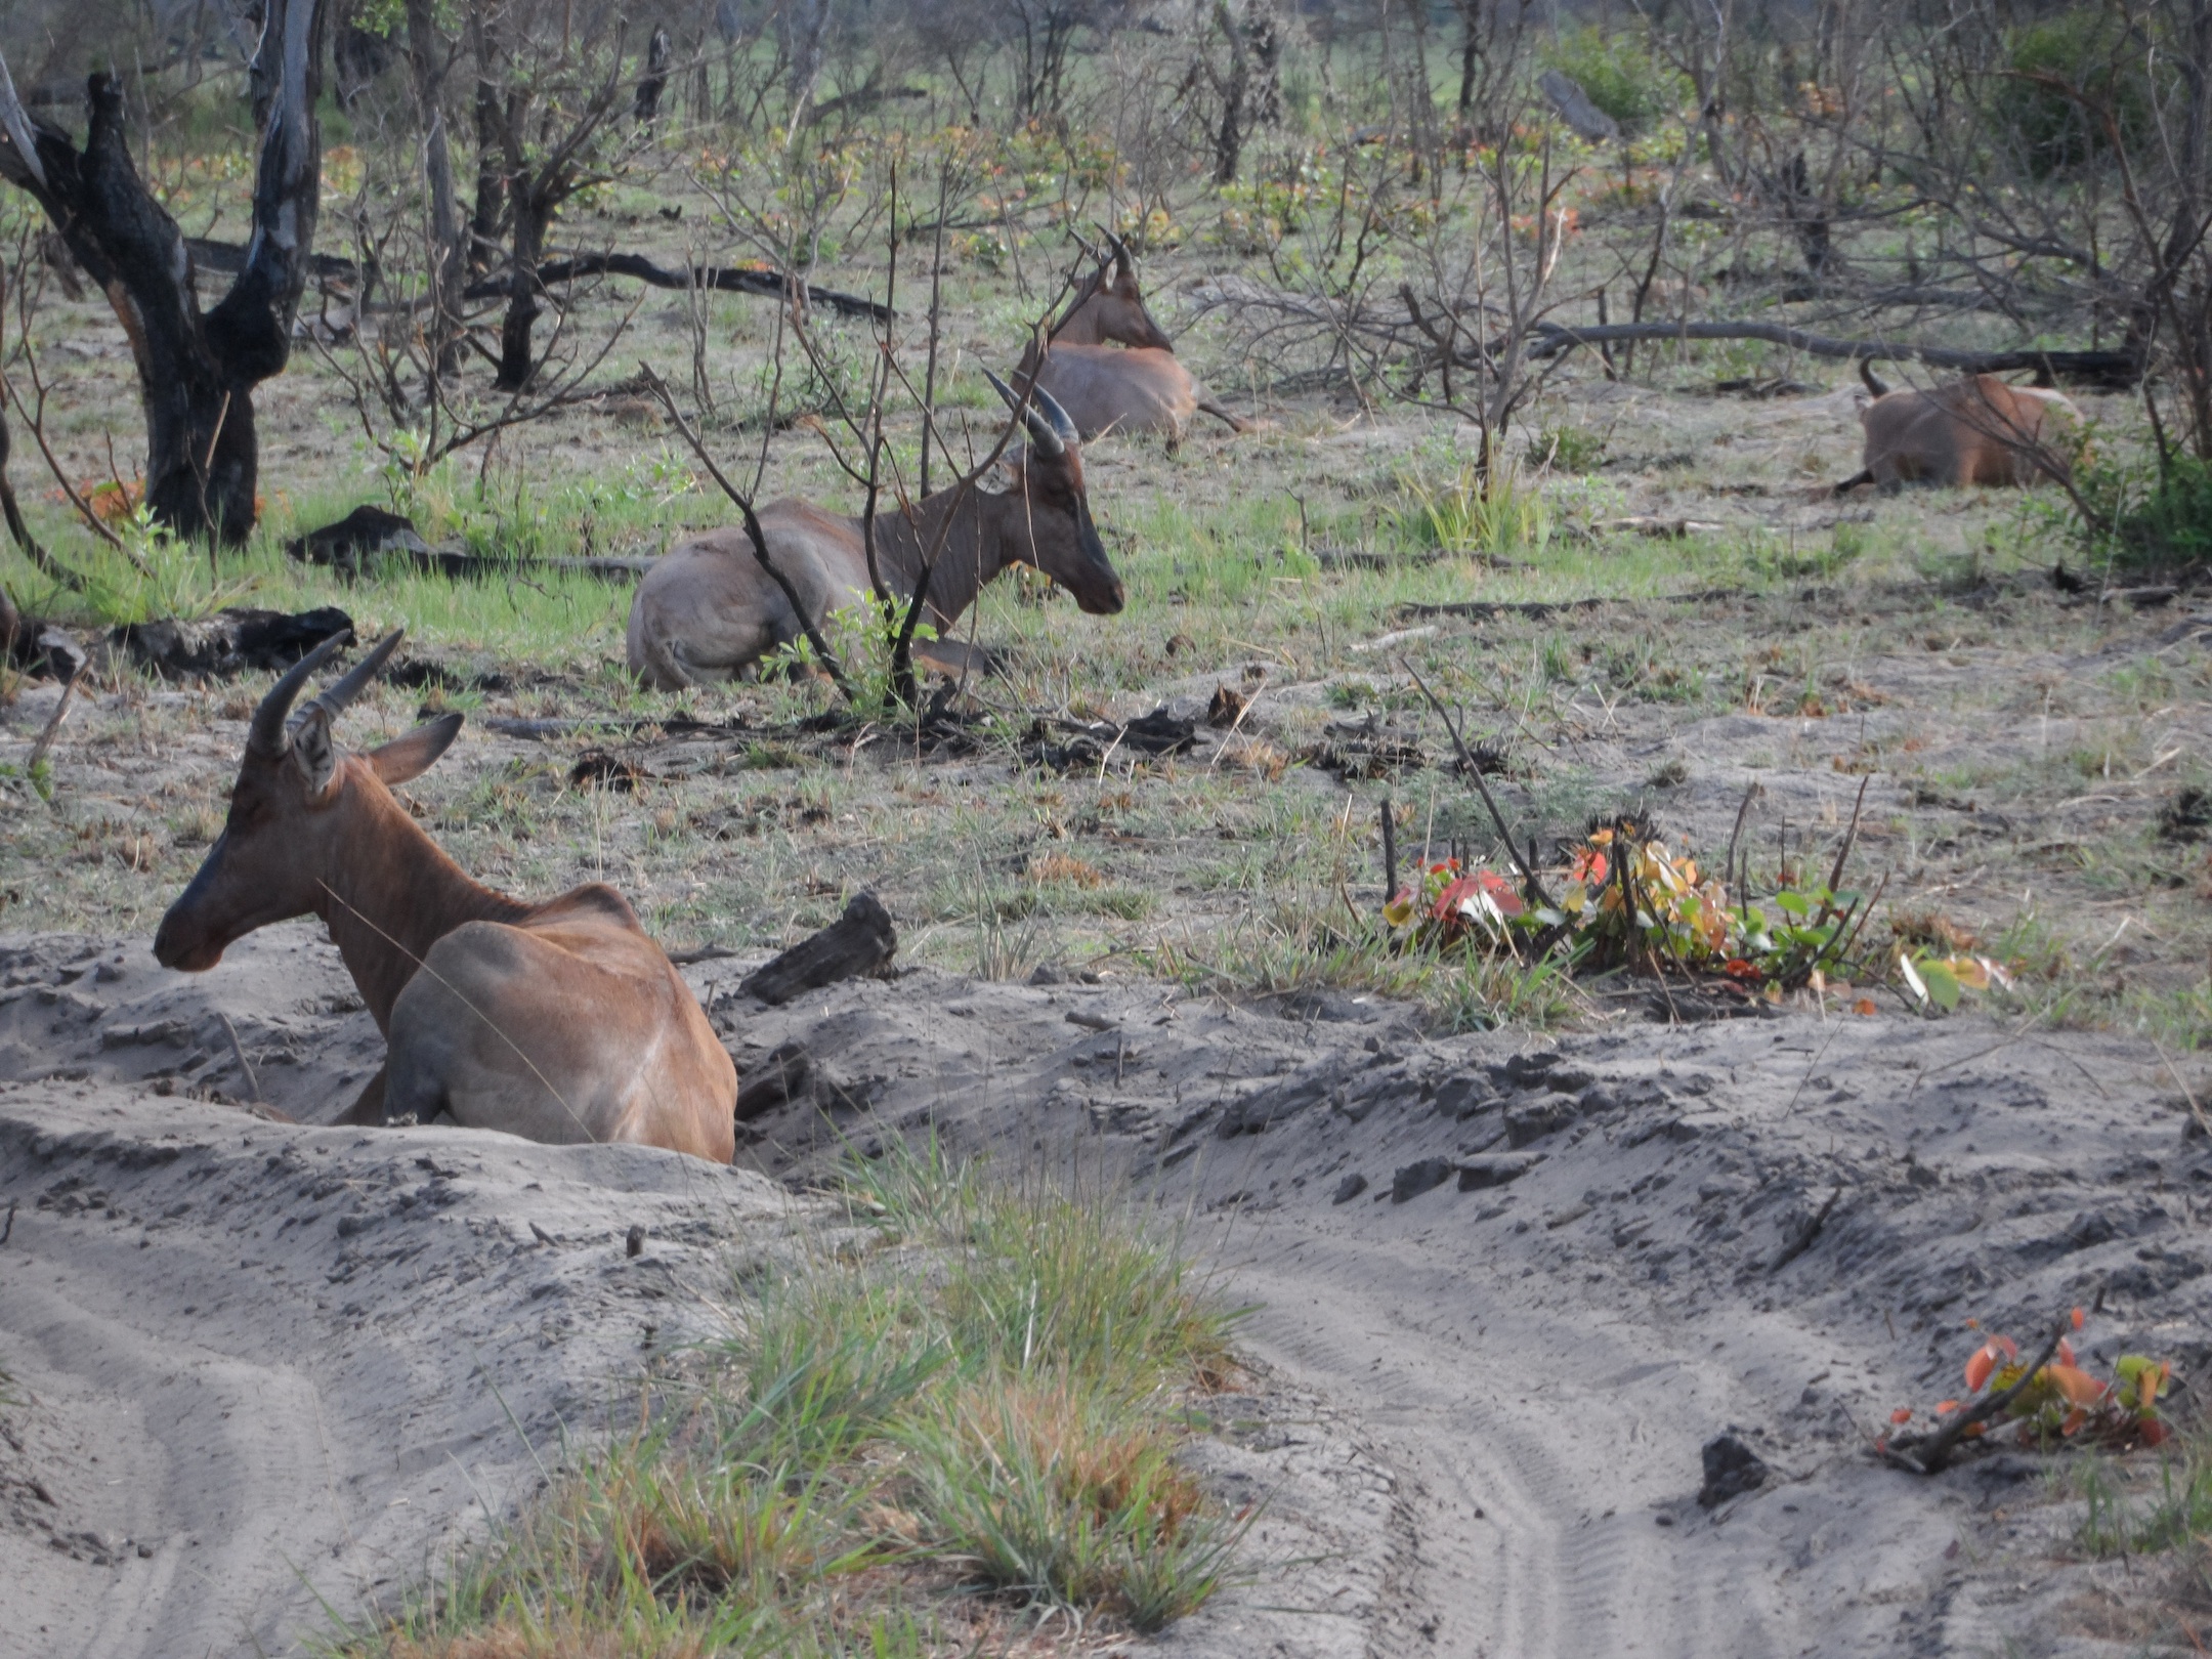
[[1110, 265], [1099, 261], [1042, 349], [1031, 341], [1022, 352], [1015, 383], [1051, 392], [1084, 440], [1108, 431], [1164, 431], [1175, 447], [1201, 409], [1234, 431], [1252, 425], [1214, 403], [1175, 361], [1175, 341], [1146, 310], [1128, 243], [1119, 237]]

